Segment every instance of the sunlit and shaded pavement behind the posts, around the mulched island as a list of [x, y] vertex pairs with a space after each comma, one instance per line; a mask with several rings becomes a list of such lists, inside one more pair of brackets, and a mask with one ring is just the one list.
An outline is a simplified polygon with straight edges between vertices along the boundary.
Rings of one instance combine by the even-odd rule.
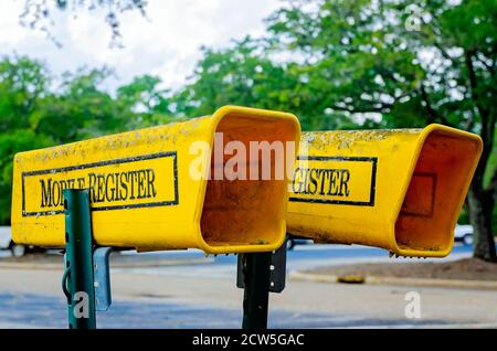
[[[114, 304], [98, 315], [101, 328], [237, 328], [243, 291], [235, 287], [234, 255], [199, 264], [199, 252], [145, 254], [184, 260], [160, 268], [113, 269]], [[447, 259], [470, 255], [456, 246]], [[197, 264], [188, 264], [192, 258]], [[390, 260], [381, 249], [309, 245], [288, 254], [288, 267]], [[398, 258], [404, 260], [402, 258]], [[65, 328], [62, 270], [0, 269], [0, 328]], [[406, 319], [405, 292], [422, 296], [422, 318]], [[273, 328], [497, 327], [495, 291], [350, 286], [289, 280], [271, 296]]]

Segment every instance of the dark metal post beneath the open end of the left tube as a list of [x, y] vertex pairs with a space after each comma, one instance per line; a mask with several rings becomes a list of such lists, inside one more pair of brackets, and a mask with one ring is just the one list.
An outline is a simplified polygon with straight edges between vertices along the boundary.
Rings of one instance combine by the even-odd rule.
[[244, 255], [243, 329], [266, 329], [272, 253]]

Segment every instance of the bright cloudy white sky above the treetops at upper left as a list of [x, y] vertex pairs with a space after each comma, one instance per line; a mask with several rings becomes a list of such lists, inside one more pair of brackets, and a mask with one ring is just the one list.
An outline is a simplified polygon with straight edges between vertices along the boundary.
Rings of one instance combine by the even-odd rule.
[[0, 56], [17, 53], [42, 60], [53, 73], [87, 65], [108, 65], [117, 74], [107, 87], [145, 73], [177, 89], [201, 57], [200, 46], [221, 47], [231, 39], [264, 33], [263, 20], [283, 3], [278, 0], [148, 0], [147, 18], [137, 11], [120, 17], [124, 49], [110, 49], [104, 12], [82, 11], [77, 18], [55, 12], [54, 36], [19, 23], [24, 0], [0, 0]]

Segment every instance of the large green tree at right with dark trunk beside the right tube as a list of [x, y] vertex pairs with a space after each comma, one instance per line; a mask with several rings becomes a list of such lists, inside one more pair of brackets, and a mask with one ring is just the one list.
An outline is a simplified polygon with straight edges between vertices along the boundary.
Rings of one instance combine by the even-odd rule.
[[268, 20], [269, 47], [308, 67], [325, 116], [379, 114], [384, 127], [429, 123], [477, 132], [484, 152], [467, 205], [474, 256], [495, 260], [495, 0], [292, 1]]

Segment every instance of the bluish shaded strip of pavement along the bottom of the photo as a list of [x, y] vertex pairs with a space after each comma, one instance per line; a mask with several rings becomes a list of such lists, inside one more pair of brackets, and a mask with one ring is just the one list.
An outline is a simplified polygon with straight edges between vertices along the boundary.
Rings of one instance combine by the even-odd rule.
[[[188, 304], [154, 304], [117, 300], [106, 312], [97, 313], [97, 328], [212, 328], [236, 329], [241, 308], [219, 308]], [[269, 313], [269, 328], [385, 328], [436, 326], [450, 327], [443, 319], [408, 321], [405, 318], [381, 319], [319, 312], [275, 310]], [[0, 328], [66, 328], [66, 307], [62, 297], [0, 294]]]

